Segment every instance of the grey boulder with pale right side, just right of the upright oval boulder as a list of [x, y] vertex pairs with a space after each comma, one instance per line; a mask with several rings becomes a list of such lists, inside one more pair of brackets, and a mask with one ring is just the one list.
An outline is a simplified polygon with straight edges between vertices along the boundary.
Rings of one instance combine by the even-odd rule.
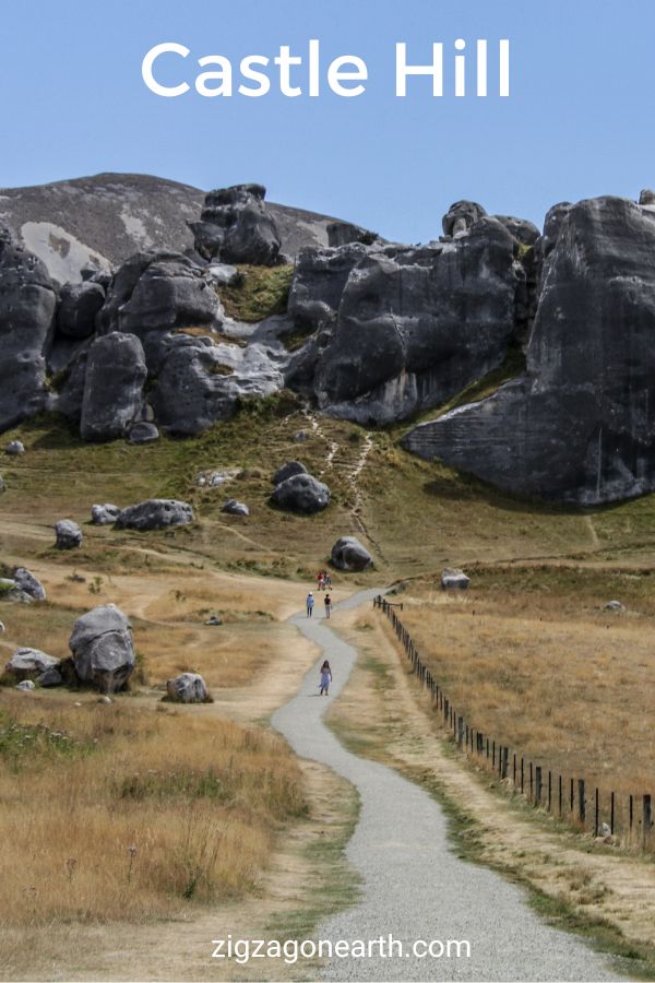
[[151, 393], [157, 423], [170, 434], [201, 434], [234, 416], [241, 400], [283, 389], [284, 365], [285, 356], [266, 345], [184, 337], [169, 348]]

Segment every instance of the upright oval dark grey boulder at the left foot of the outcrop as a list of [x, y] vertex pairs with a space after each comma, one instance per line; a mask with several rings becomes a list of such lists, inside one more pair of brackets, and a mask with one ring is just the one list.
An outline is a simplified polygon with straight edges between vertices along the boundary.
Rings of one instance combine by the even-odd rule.
[[117, 331], [97, 337], [87, 354], [82, 439], [123, 436], [141, 412], [146, 377], [145, 355], [138, 337]]

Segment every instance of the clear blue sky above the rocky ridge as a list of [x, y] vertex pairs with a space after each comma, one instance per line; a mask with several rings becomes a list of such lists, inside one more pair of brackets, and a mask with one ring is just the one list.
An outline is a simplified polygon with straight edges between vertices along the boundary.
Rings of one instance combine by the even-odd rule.
[[[541, 224], [562, 200], [655, 186], [653, 0], [31, 0], [5, 3], [0, 186], [103, 170], [215, 188], [257, 180], [275, 201], [425, 241], [461, 198]], [[178, 99], [153, 95], [141, 61], [175, 40], [192, 62], [222, 54], [362, 57], [365, 95]], [[397, 99], [395, 43], [427, 61], [456, 37], [512, 45], [509, 99]], [[170, 63], [172, 68], [172, 62]], [[302, 72], [300, 78], [303, 78]]]

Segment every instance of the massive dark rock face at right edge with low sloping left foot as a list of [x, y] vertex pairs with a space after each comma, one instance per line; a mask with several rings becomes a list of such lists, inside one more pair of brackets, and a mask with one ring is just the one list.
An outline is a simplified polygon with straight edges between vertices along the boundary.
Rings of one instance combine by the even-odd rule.
[[655, 488], [655, 213], [618, 198], [547, 216], [527, 371], [404, 446], [501, 488], [598, 505]]

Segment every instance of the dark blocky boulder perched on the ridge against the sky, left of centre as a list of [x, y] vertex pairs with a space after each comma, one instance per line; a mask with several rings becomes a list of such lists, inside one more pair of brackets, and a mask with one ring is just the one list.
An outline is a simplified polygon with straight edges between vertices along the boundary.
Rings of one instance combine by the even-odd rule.
[[221, 263], [273, 267], [281, 237], [273, 216], [264, 208], [262, 185], [235, 185], [210, 191], [201, 221], [191, 223], [198, 252]]

